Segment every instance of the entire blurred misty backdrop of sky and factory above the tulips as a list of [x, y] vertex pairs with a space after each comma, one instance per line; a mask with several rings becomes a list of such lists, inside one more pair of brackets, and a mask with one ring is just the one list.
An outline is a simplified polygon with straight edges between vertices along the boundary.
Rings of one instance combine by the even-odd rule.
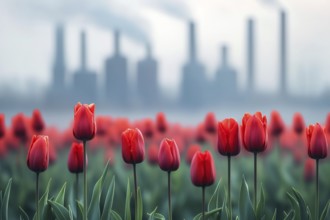
[[[0, 2], [0, 111], [61, 125], [77, 101], [184, 123], [280, 110], [324, 120], [328, 1]], [[58, 114], [61, 112], [61, 114]], [[7, 120], [10, 117], [7, 117]]]

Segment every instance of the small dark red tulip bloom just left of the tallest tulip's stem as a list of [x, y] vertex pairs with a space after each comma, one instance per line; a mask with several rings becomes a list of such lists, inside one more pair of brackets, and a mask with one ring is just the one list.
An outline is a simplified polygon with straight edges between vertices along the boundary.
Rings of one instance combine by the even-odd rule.
[[68, 157], [68, 169], [71, 173], [84, 171], [84, 146], [82, 143], [72, 143]]

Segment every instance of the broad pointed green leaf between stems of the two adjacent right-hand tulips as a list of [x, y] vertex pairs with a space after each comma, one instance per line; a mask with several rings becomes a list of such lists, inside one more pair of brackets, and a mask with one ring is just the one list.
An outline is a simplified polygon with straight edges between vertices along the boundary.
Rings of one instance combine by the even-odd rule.
[[239, 214], [240, 219], [255, 219], [252, 202], [249, 195], [249, 187], [243, 176], [241, 191], [239, 196]]

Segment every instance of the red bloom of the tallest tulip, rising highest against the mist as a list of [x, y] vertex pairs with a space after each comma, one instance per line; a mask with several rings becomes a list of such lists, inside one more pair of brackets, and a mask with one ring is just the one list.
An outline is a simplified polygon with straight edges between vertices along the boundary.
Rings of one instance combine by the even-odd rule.
[[88, 141], [94, 138], [96, 124], [94, 120], [94, 104], [81, 104], [74, 107], [73, 135], [76, 139]]

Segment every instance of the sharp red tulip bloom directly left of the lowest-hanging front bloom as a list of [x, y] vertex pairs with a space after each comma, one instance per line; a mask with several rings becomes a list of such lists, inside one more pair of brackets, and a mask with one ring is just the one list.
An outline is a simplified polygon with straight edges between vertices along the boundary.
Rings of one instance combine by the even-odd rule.
[[180, 166], [180, 153], [173, 139], [164, 138], [160, 143], [158, 152], [158, 164], [164, 171], [175, 171]]

